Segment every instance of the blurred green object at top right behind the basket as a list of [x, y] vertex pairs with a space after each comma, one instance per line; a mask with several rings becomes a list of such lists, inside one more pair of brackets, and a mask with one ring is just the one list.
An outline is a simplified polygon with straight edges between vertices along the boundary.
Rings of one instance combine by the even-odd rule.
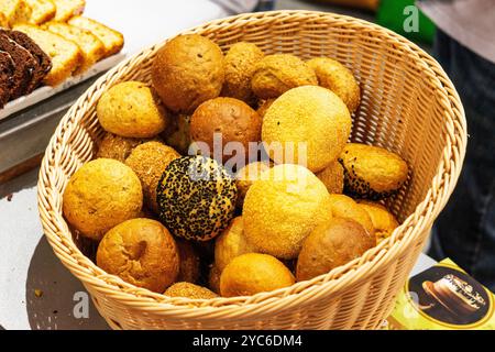
[[405, 37], [431, 44], [437, 28], [416, 6], [414, 0], [382, 0], [376, 22]]

